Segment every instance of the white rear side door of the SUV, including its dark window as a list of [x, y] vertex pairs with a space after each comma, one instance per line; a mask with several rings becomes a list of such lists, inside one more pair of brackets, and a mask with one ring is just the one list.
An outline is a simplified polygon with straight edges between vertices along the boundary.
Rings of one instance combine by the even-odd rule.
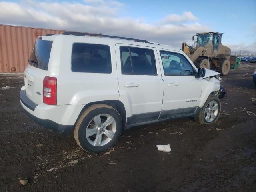
[[162, 108], [164, 82], [156, 48], [116, 44], [119, 100], [127, 124], [156, 120]]

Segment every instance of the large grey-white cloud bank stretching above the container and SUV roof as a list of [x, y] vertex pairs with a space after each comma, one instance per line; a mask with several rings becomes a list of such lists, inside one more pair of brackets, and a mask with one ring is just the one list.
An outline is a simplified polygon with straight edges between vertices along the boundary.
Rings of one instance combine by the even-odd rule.
[[0, 23], [79, 32], [96, 32], [116, 36], [142, 38], [181, 48], [197, 32], [210, 31], [194, 21], [191, 12], [173, 15], [168, 23], [148, 24], [141, 18], [120, 17], [124, 4], [114, 0], [69, 2], [0, 2]]

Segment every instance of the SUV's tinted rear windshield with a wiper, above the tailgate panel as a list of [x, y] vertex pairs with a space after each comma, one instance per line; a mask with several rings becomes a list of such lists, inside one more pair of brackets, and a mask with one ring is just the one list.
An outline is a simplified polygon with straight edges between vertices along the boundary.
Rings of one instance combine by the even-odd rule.
[[28, 63], [31, 66], [47, 71], [51, 49], [52, 41], [36, 40]]

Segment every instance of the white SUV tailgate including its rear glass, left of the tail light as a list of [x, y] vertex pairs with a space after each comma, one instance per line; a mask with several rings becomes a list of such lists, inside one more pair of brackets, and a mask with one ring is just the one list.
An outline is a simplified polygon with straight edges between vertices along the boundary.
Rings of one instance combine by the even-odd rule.
[[43, 102], [43, 80], [47, 74], [52, 41], [36, 40], [24, 71], [26, 96], [36, 104]]

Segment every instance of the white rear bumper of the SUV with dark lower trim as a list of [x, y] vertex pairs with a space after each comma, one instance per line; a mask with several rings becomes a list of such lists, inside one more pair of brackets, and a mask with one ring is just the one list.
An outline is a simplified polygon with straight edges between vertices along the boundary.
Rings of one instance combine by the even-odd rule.
[[45, 128], [68, 134], [83, 109], [83, 105], [46, 105], [35, 104], [27, 96], [25, 90], [20, 91], [20, 104], [26, 115]]

